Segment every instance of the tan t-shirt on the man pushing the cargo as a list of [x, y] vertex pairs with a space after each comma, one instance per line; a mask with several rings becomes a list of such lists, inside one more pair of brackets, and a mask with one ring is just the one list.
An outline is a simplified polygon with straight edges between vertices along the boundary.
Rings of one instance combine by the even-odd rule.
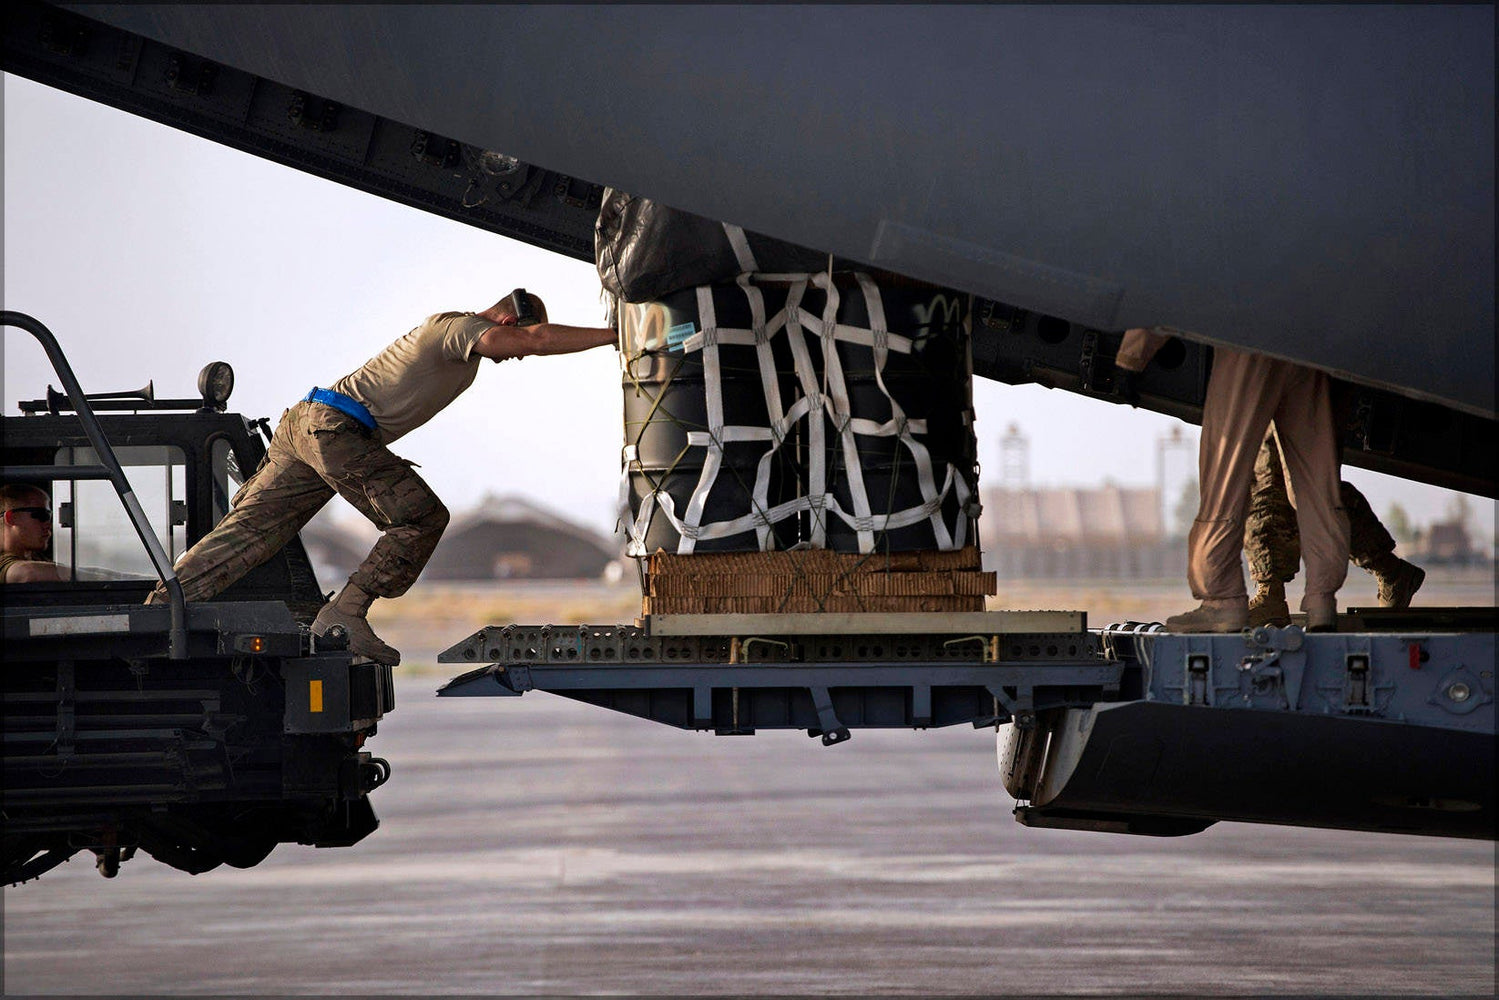
[[331, 385], [364, 403], [390, 444], [432, 420], [474, 382], [474, 345], [495, 324], [471, 312], [439, 312]]

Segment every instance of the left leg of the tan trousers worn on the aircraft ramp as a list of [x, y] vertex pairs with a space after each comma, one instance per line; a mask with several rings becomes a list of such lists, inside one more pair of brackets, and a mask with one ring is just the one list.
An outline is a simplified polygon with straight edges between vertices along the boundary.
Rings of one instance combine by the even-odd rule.
[[[1277, 367], [1279, 366], [1279, 367]], [[1244, 598], [1244, 514], [1265, 429], [1280, 399], [1280, 361], [1214, 348], [1198, 447], [1198, 517], [1187, 534], [1187, 583], [1201, 601]]]

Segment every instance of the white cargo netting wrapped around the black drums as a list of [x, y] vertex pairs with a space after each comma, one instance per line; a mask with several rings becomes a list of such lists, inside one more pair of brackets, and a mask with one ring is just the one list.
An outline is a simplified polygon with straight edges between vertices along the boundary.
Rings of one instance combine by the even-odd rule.
[[[681, 505], [679, 499], [666, 489], [652, 487], [640, 498], [637, 510], [631, 511], [631, 477], [633, 474], [640, 477], [645, 469], [637, 447], [634, 444], [625, 447], [621, 517], [630, 535], [630, 555], [649, 555], [646, 534], [652, 517], [657, 516], [666, 517], [676, 531], [678, 555], [693, 553], [702, 541], [748, 535], [750, 532], [754, 534], [760, 550], [770, 550], [776, 547], [773, 526], [800, 514], [808, 514], [809, 523], [809, 535], [803, 541], [814, 549], [827, 546], [830, 517], [839, 519], [856, 532], [857, 547], [862, 553], [875, 552], [883, 532], [922, 522], [929, 523], [935, 549], [961, 549], [973, 541], [970, 522], [977, 519], [976, 490], [971, 481], [973, 469], [959, 469], [952, 462], [935, 463], [928, 445], [919, 439], [928, 433], [926, 418], [923, 415], [908, 417], [886, 384], [887, 360], [892, 354], [910, 355], [917, 342], [910, 336], [889, 331], [880, 286], [868, 274], [857, 273], [854, 277], [857, 289], [850, 291], [862, 294], [868, 327], [838, 322], [842, 292], [827, 273], [742, 274], [735, 288], [738, 294], [745, 297], [751, 318], [748, 327], [720, 325], [714, 300], [715, 286], [696, 289], [696, 325], [673, 328], [669, 331], [667, 343], [655, 346], [658, 349], [679, 346], [685, 357], [697, 355], [702, 363], [706, 403], [703, 424], [706, 427], [699, 424], [700, 429], [690, 429], [685, 435], [687, 450], [694, 451], [694, 457], [702, 460], [700, 475], [685, 505]], [[785, 292], [784, 306], [769, 316], [766, 315], [764, 292], [758, 286], [761, 283], [773, 283], [778, 291], [784, 289]], [[724, 288], [724, 285], [717, 286], [721, 294]], [[808, 309], [805, 303], [808, 289], [821, 292], [817, 295], [823, 300], [820, 312]], [[775, 298], [779, 300], [779, 294]], [[646, 352], [642, 348], [645, 337], [633, 337], [631, 331], [639, 331], [643, 324], [649, 322], [646, 318], [649, 307], [649, 303], [643, 306], [622, 303], [619, 306], [621, 330], [625, 334], [622, 339], [627, 345], [634, 345], [624, 357], [627, 384], [633, 381], [631, 361]], [[920, 309], [926, 310], [925, 316], [920, 316]], [[938, 292], [932, 295], [928, 306], [917, 307], [917, 319], [922, 325], [934, 319], [934, 313], [941, 313], [937, 318], [944, 321], [964, 316], [964, 297], [953, 292]], [[785, 399], [787, 393], [782, 393], [785, 382], [782, 382], [773, 355], [779, 339], [784, 339], [794, 363], [794, 378], [788, 382], [790, 399]], [[889, 408], [887, 417], [880, 414], [884, 417], [883, 420], [872, 420], [854, 412], [844, 364], [836, 349], [838, 343], [859, 345], [869, 351], [874, 382], [883, 394], [883, 403]], [[730, 345], [754, 349], [764, 412], [767, 414], [766, 424], [726, 423], [724, 375], [720, 355], [721, 349]], [[636, 388], [648, 391], [639, 382], [636, 382]], [[968, 394], [964, 391], [961, 399], [946, 402], [962, 411], [962, 426], [971, 436]], [[669, 412], [657, 412], [655, 415], [672, 418]], [[793, 436], [802, 444], [796, 457], [799, 495], [772, 501], [772, 466], [778, 459], [787, 457], [782, 454], [782, 448]], [[898, 441], [898, 454], [902, 463], [907, 459], [910, 462], [910, 472], [920, 495], [919, 502], [901, 510], [886, 510], [889, 504], [886, 508], [871, 504], [871, 489], [865, 480], [859, 450], [860, 438]], [[726, 474], [726, 447], [754, 442], [763, 444], [763, 451], [758, 453], [754, 481], [744, 483], [750, 496], [747, 508], [732, 517], [705, 520], [708, 498], [718, 477]], [[839, 454], [841, 469], [845, 475], [847, 495], [844, 502], [839, 502], [833, 490], [829, 489], [827, 462], [833, 451]], [[739, 472], [730, 469], [730, 474], [738, 475]], [[949, 499], [956, 502], [949, 504]]]

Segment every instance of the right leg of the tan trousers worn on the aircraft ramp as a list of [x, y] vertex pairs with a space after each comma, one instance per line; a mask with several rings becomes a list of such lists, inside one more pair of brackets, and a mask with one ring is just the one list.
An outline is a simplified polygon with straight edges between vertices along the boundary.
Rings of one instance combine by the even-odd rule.
[[1309, 603], [1337, 594], [1348, 576], [1348, 513], [1340, 496], [1337, 430], [1327, 375], [1286, 366], [1285, 390], [1276, 406], [1276, 438], [1285, 456], [1291, 502], [1297, 508], [1301, 558], [1307, 565]]

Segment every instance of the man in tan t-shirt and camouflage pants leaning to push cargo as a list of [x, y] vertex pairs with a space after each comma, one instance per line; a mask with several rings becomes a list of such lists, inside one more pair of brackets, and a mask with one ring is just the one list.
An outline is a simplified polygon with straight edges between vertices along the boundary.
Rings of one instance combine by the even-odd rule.
[[[261, 468], [232, 510], [178, 561], [189, 601], [204, 601], [265, 562], [337, 493], [381, 529], [369, 556], [324, 606], [312, 631], [342, 627], [349, 649], [396, 664], [400, 654], [366, 618], [376, 597], [400, 597], [421, 574], [448, 510], [390, 444], [435, 417], [466, 390], [481, 358], [571, 354], [615, 342], [607, 327], [547, 321], [535, 295], [516, 289], [483, 312], [441, 312], [345, 375], [313, 387], [282, 414]], [[165, 603], [157, 586], [147, 603]]]

